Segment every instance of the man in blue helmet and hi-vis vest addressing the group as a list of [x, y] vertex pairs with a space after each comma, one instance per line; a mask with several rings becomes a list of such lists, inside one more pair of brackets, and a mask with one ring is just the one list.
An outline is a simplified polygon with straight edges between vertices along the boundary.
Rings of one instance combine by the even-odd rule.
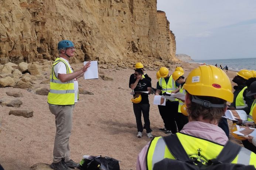
[[50, 167], [55, 170], [71, 170], [69, 167], [79, 167], [79, 163], [70, 158], [69, 149], [72, 111], [78, 100], [77, 78], [82, 77], [90, 67], [90, 61], [74, 72], [68, 62], [69, 58], [75, 55], [74, 44], [70, 40], [62, 40], [58, 43], [58, 51], [59, 57], [52, 65], [47, 100], [51, 113], [55, 115], [56, 124], [53, 162]]

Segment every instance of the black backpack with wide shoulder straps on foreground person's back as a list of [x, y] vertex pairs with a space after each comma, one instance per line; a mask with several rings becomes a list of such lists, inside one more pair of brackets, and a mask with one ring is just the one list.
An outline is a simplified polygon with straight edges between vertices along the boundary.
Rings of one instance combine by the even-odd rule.
[[165, 136], [163, 139], [176, 159], [165, 158], [155, 163], [153, 170], [255, 170], [253, 165], [231, 163], [239, 153], [241, 146], [230, 141], [226, 143], [216, 159], [211, 159], [205, 164], [188, 157], [176, 134]]

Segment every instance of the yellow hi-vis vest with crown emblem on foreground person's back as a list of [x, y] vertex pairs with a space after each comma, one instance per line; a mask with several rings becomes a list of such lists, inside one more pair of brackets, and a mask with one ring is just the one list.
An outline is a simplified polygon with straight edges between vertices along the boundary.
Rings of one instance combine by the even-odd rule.
[[[216, 144], [205, 139], [196, 138], [182, 133], [176, 134], [183, 148], [188, 154], [188, 157], [201, 159], [202, 161], [205, 161], [205, 163], [207, 163], [210, 159], [216, 158], [224, 147], [223, 145]], [[154, 164], [163, 160], [164, 158], [175, 159], [167, 148], [163, 137], [155, 137], [152, 139], [146, 155], [147, 169], [152, 170]], [[238, 155], [231, 163], [254, 165], [256, 167], [256, 154], [242, 147]]]

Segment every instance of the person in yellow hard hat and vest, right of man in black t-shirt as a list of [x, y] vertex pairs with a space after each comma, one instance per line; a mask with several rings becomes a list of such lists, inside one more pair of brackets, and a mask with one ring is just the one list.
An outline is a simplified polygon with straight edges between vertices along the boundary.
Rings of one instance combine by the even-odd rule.
[[[175, 85], [172, 75], [169, 75], [168, 68], [161, 67], [159, 73], [161, 78], [158, 80], [156, 95], [160, 95], [160, 93], [162, 92], [163, 96], [167, 95], [167, 93], [172, 93], [173, 91], [175, 91], [177, 89], [177, 86]], [[178, 114], [178, 105], [178, 99], [166, 99], [165, 106], [163, 107], [164, 109], [161, 112], [161, 117], [164, 121], [163, 130], [166, 130], [165, 134], [177, 132], [175, 115]]]

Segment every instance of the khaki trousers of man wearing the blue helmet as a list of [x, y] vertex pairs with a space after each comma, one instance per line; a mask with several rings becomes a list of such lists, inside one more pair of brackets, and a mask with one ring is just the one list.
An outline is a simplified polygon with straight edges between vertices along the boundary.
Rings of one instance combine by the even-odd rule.
[[72, 111], [75, 105], [49, 105], [52, 114], [55, 115], [56, 134], [53, 148], [53, 163], [58, 163], [65, 157], [69, 161], [69, 137], [72, 129]]

